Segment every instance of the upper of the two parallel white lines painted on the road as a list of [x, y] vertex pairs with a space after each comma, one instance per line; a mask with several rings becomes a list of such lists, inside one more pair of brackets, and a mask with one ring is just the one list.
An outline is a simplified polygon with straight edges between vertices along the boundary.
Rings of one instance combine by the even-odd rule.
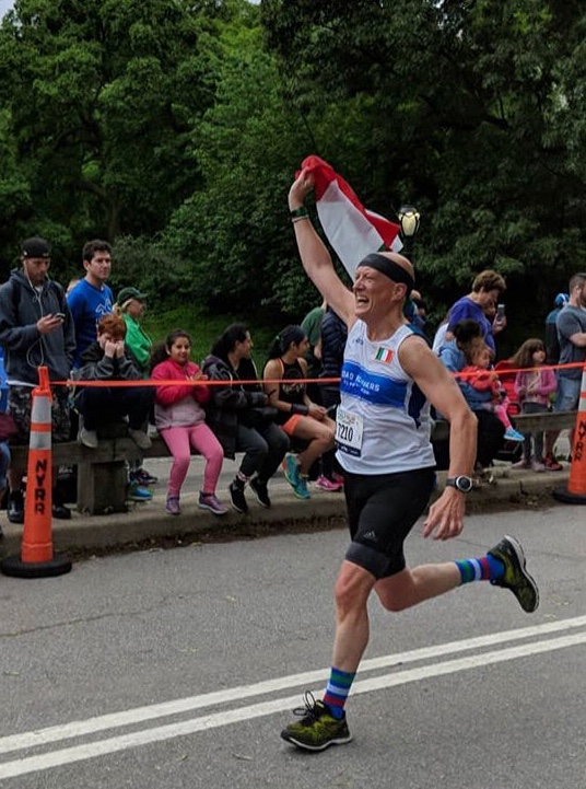
[[[408, 652], [396, 652], [395, 654], [386, 654], [380, 658], [372, 658], [363, 661], [360, 666], [360, 673], [362, 676], [367, 671], [405, 665], [419, 660], [435, 660], [446, 654], [454, 654], [484, 647], [494, 647], [497, 643], [547, 636], [552, 633], [572, 630], [584, 626], [586, 626], [586, 616], [579, 616], [572, 619], [563, 619], [561, 622], [550, 622], [542, 625], [524, 627], [519, 630], [503, 630], [502, 633], [492, 633], [487, 636], [467, 638], [461, 641], [449, 641], [447, 643], [423, 647]], [[307, 687], [314, 683], [327, 680], [328, 675], [329, 668], [319, 669], [317, 671], [309, 671], [303, 674], [292, 674], [290, 676], [277, 677], [274, 680], [266, 680], [253, 685], [241, 685], [238, 687], [214, 691], [199, 696], [179, 698], [173, 701], [163, 701], [162, 704], [137, 707], [136, 709], [124, 710], [120, 712], [110, 712], [108, 715], [97, 716], [86, 720], [71, 721], [69, 723], [47, 727], [46, 729], [38, 729], [36, 731], [24, 732], [22, 734], [11, 734], [9, 736], [0, 738], [0, 754], [46, 745], [60, 740], [84, 736], [86, 734], [93, 734], [108, 729], [133, 726], [143, 721], [154, 720], [156, 718], [166, 718], [168, 716], [180, 715], [181, 712], [189, 712], [195, 709], [202, 709], [204, 707], [237, 701], [245, 698], [251, 698], [253, 696], [284, 691], [291, 687]]]

